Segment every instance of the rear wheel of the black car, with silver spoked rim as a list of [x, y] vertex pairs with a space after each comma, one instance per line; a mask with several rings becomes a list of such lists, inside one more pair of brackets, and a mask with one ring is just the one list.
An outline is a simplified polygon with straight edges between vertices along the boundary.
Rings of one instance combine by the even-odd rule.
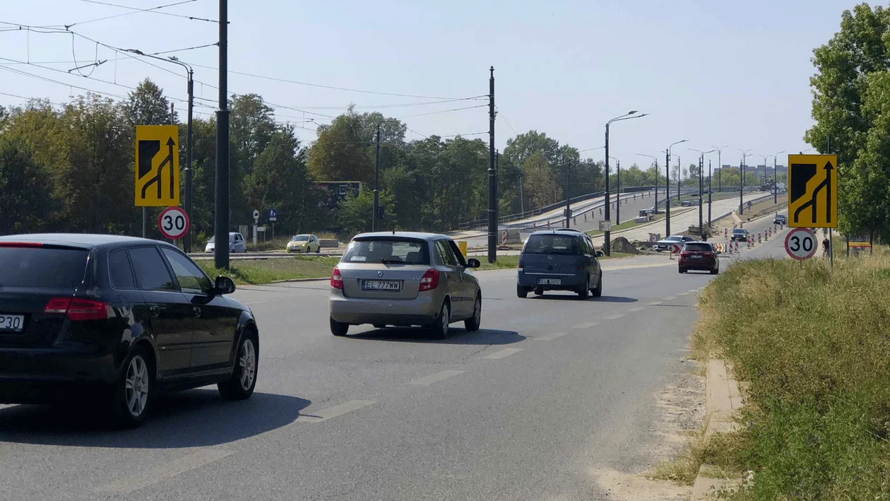
[[154, 397], [155, 368], [151, 360], [142, 346], [136, 346], [126, 360], [112, 400], [117, 424], [134, 428], [145, 421]]

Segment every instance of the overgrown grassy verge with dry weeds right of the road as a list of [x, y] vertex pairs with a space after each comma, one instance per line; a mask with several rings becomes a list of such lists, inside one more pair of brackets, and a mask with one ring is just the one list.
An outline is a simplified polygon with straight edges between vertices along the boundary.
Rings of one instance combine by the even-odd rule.
[[741, 262], [701, 295], [693, 354], [750, 383], [740, 430], [717, 444], [753, 472], [736, 499], [890, 497], [890, 256], [837, 254], [833, 272]]

